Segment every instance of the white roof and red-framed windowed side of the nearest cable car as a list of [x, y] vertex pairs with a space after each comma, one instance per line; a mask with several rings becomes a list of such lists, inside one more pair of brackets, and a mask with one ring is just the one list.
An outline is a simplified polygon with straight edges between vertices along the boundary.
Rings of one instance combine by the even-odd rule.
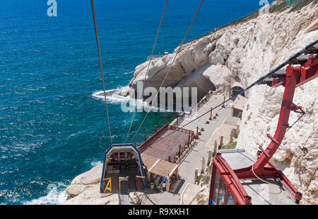
[[[293, 205], [296, 199], [284, 186], [280, 179], [240, 180], [241, 185], [235, 185], [231, 180], [229, 169], [248, 167], [256, 161], [257, 155], [251, 155], [245, 150], [220, 150], [213, 159], [211, 191], [209, 204], [211, 205]], [[220, 160], [225, 160], [224, 165]], [[266, 182], [268, 183], [266, 183]], [[239, 187], [239, 188], [237, 188]], [[242, 192], [245, 190], [246, 193]]]

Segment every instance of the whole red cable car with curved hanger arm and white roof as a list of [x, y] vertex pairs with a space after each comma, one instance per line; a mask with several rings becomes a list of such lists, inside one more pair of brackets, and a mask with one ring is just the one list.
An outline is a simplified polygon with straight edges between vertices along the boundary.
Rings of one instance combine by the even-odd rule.
[[[300, 203], [302, 193], [270, 159], [281, 145], [286, 130], [305, 115], [302, 107], [293, 103], [295, 88], [318, 77], [318, 43], [306, 47], [302, 53], [288, 61], [284, 72], [277, 71], [272, 78], [262, 80], [269, 86], [285, 86], [276, 133], [273, 137], [267, 134], [271, 142], [266, 150], [259, 147], [257, 155], [245, 150], [220, 150], [216, 154], [211, 173], [210, 205]], [[302, 114], [291, 126], [288, 125], [290, 111]]]

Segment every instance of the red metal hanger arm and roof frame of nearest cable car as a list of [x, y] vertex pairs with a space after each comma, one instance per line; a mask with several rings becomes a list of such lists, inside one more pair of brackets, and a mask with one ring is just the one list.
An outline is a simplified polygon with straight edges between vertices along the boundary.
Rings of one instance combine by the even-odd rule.
[[[286, 130], [290, 128], [288, 125], [290, 111], [305, 113], [300, 106], [296, 106], [293, 103], [295, 88], [316, 77], [318, 77], [318, 55], [310, 55], [309, 60], [302, 66], [289, 65], [286, 68], [286, 75], [284, 77], [273, 79], [270, 86], [285, 86], [278, 125], [273, 137], [267, 134], [267, 137], [271, 139], [271, 142], [266, 150], [259, 147], [259, 157], [252, 166], [232, 170], [220, 154], [217, 154], [216, 158], [213, 159], [214, 167], [216, 167], [220, 172], [220, 176], [224, 179], [227, 188], [232, 192], [237, 204], [250, 204], [252, 202], [252, 198], [247, 195], [247, 192], [240, 183], [240, 180], [253, 180], [256, 178], [254, 173], [263, 178], [280, 179], [285, 187], [293, 194], [296, 202], [301, 200], [302, 193], [295, 189], [293, 184], [287, 179], [283, 172], [281, 172], [281, 170], [270, 161], [270, 159], [273, 157], [273, 154], [276, 152], [279, 145], [281, 145]], [[252, 172], [252, 167], [254, 169], [254, 173]], [[213, 174], [215, 174], [215, 170], [213, 170]], [[214, 183], [214, 178], [215, 176], [213, 175], [211, 185]], [[212, 193], [213, 188], [211, 188], [210, 200], [213, 195]]]

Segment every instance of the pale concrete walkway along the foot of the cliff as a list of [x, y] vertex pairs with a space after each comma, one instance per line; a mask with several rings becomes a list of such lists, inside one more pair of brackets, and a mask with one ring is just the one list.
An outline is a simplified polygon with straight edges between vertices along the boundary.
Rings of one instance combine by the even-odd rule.
[[[199, 112], [196, 113], [196, 115], [190, 118], [186, 118], [179, 125], [179, 127], [182, 127], [183, 125], [189, 123], [190, 120], [202, 115], [214, 106], [218, 106], [218, 104], [223, 102], [223, 98], [223, 95], [212, 96], [208, 102], [204, 103], [204, 106], [199, 109]], [[225, 108], [219, 107], [213, 111], [213, 115], [216, 113], [218, 113], [218, 118], [211, 120], [209, 124], [206, 124], [206, 121], [208, 120], [208, 118], [210, 118], [210, 113], [207, 113], [205, 116], [183, 127], [196, 132], [196, 127], [199, 126], [199, 131], [201, 130], [201, 128], [204, 128], [204, 131], [201, 131], [201, 135], [199, 135], [196, 146], [192, 147], [192, 150], [186, 157], [184, 157], [184, 159], [182, 159], [182, 162], [179, 164], [179, 180], [181, 181], [178, 186], [179, 188], [174, 193], [167, 191], [162, 193], [155, 193], [154, 191], [150, 190], [148, 193], [148, 197], [151, 198], [151, 201], [153, 201], [153, 203], [161, 205], [179, 205], [181, 203], [182, 192], [184, 191], [184, 189], [186, 189], [187, 184], [194, 184], [195, 169], [198, 168], [200, 174], [201, 160], [202, 158], [207, 159], [208, 150], [211, 150], [211, 148], [206, 147], [206, 142], [211, 137], [214, 130], [222, 125], [223, 121], [228, 116], [230, 116], [231, 108], [228, 104], [228, 106]], [[143, 202], [143, 204], [152, 204], [151, 201], [145, 201]]]

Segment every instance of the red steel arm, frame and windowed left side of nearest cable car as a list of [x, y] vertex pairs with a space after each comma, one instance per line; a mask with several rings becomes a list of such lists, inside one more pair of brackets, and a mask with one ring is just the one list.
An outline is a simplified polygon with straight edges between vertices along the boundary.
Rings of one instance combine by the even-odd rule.
[[[314, 53], [317, 53], [317, 51]], [[316, 77], [318, 77], [318, 55], [312, 54], [305, 61], [298, 59], [290, 63], [285, 69], [285, 74], [275, 74], [274, 78], [266, 81], [269, 86], [285, 86], [276, 133], [273, 137], [267, 134], [271, 142], [265, 150], [259, 147], [257, 160], [252, 166], [232, 169], [220, 153], [216, 155], [213, 159], [209, 204], [251, 204], [252, 197], [249, 196], [241, 182], [247, 179], [257, 181], [260, 178], [266, 180], [279, 179], [293, 195], [295, 203], [299, 203], [302, 199], [302, 193], [295, 189], [293, 184], [270, 159], [281, 145], [286, 130], [290, 128], [288, 124], [290, 111], [305, 114], [301, 106], [293, 103], [295, 88]], [[222, 193], [223, 200], [220, 201], [219, 196], [222, 189], [225, 191], [225, 195]]]

